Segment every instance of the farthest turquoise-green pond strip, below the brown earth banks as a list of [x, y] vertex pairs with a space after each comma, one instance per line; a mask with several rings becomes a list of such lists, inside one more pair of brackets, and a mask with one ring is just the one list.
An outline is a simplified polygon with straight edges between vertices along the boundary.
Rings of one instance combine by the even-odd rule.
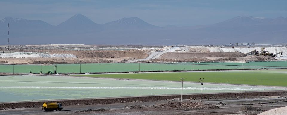
[[[244, 69], [287, 68], [287, 61], [243, 63]], [[163, 70], [208, 70], [242, 69], [242, 63], [88, 63], [57, 64], [57, 73], [81, 72], [127, 72], [127, 71], [163, 71]], [[53, 65], [14, 65], [14, 73], [54, 72]], [[0, 65], [0, 72], [13, 73], [13, 65]]]

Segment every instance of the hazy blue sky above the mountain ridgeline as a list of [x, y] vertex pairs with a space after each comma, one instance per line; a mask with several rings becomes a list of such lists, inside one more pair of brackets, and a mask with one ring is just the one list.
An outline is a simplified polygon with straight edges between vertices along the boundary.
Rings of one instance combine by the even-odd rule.
[[0, 0], [0, 19], [10, 16], [58, 25], [77, 13], [98, 24], [139, 17], [157, 26], [190, 26], [241, 15], [287, 17], [287, 0]]

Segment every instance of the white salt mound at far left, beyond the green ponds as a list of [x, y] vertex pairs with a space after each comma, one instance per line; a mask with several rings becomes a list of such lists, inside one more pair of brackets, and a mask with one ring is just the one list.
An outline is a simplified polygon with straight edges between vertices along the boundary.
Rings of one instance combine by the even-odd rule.
[[77, 58], [73, 54], [48, 54], [48, 53], [3, 53], [0, 58]]

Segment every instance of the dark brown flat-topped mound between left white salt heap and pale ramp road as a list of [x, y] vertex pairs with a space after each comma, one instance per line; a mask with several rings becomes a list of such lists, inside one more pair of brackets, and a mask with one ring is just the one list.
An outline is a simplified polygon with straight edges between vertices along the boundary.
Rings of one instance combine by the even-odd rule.
[[76, 57], [82, 58], [93, 58], [93, 57], [100, 57], [100, 58], [118, 58], [118, 57], [130, 57], [130, 58], [137, 58], [137, 59], [144, 59], [149, 55], [140, 50], [128, 50], [128, 51], [115, 51], [115, 50], [54, 50], [50, 51], [50, 54], [73, 54]]

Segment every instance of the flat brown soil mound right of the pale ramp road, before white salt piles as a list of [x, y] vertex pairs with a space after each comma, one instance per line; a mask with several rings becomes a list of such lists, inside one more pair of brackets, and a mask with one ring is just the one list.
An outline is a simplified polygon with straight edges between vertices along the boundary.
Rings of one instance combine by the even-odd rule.
[[159, 57], [159, 59], [191, 59], [191, 58], [205, 58], [205, 57], [245, 57], [246, 55], [240, 52], [209, 52], [209, 53], [199, 53], [199, 52], [168, 52], [164, 53]]

